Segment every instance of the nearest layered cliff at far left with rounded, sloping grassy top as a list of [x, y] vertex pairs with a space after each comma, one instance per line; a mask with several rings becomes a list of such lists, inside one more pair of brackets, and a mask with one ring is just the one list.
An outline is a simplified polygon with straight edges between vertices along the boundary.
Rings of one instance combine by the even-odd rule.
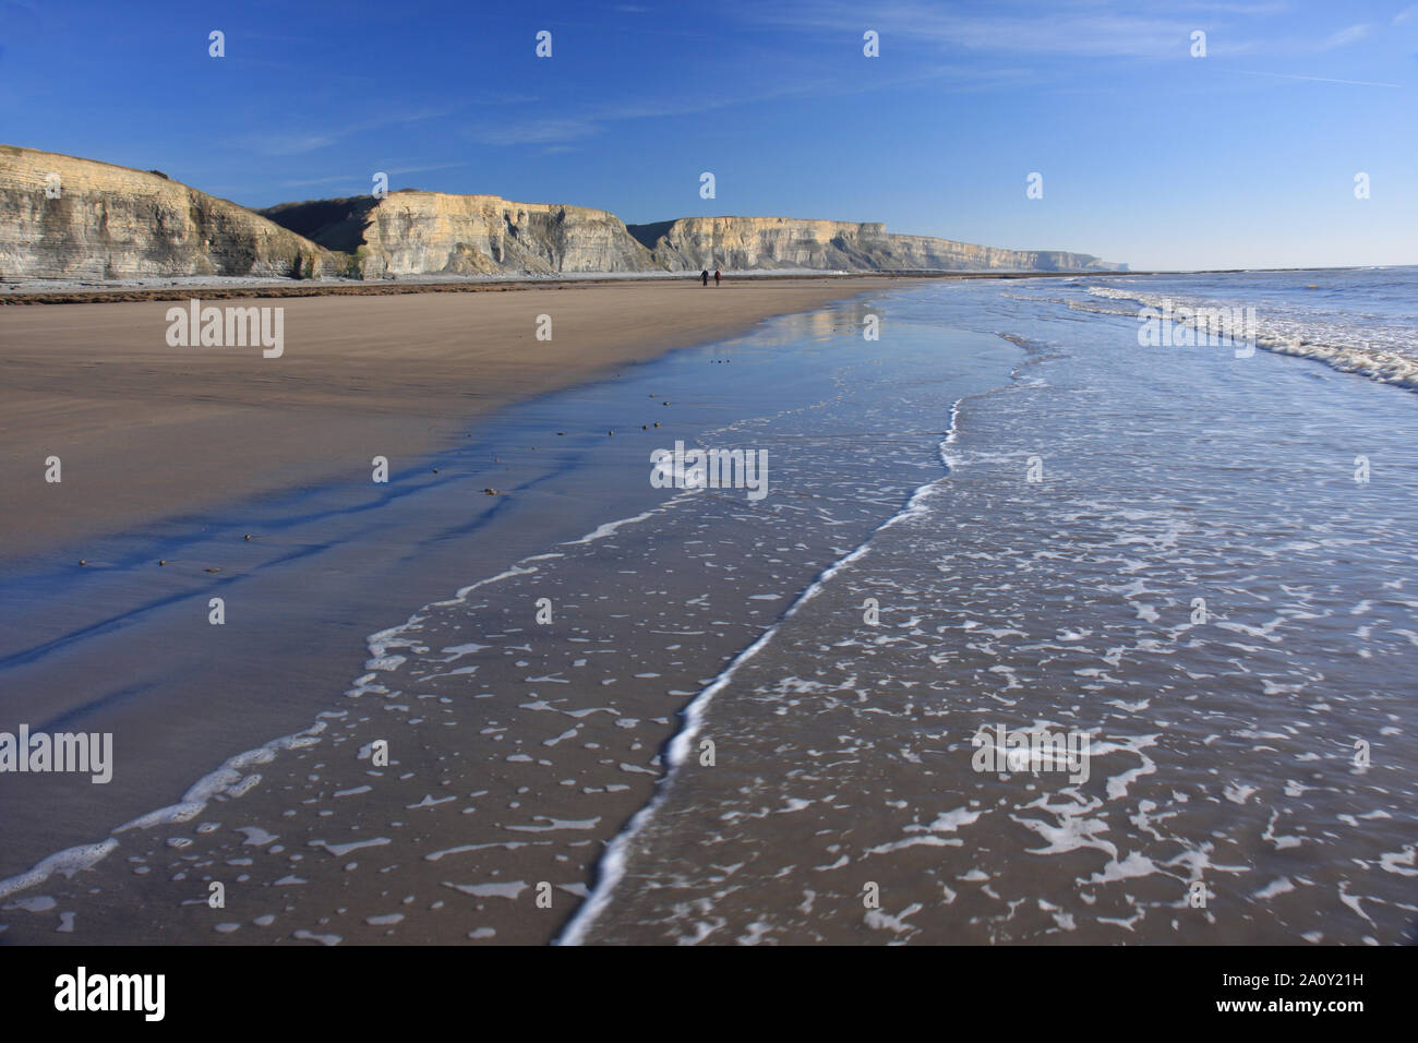
[[[45, 187], [54, 184], [51, 199]], [[164, 175], [0, 145], [3, 280], [306, 277], [343, 268], [329, 250]]]

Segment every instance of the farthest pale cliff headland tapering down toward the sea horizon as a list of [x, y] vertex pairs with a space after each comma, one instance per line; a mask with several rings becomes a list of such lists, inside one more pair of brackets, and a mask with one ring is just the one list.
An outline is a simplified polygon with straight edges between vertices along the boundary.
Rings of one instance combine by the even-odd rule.
[[847, 271], [1123, 271], [1127, 265], [1062, 250], [998, 250], [929, 236], [896, 236], [878, 223], [791, 217], [685, 217], [631, 224], [669, 270], [727, 267]]

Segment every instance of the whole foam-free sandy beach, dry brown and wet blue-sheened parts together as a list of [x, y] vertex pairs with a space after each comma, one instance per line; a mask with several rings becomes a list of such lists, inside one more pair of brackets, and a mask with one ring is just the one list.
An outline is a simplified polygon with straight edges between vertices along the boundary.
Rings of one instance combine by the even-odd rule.
[[[835, 298], [889, 285], [301, 298], [284, 302], [274, 359], [169, 346], [170, 302], [4, 309], [4, 433], [17, 447], [4, 467], [17, 492], [3, 515], [0, 729], [111, 731], [119, 768], [101, 799], [84, 776], [7, 776], [0, 878], [308, 727], [357, 677], [373, 631], [658, 502], [647, 438], [691, 436], [706, 416], [699, 373], [735, 372], [692, 355], [664, 382], [648, 377], [668, 349], [718, 345], [778, 312], [820, 338], [859, 322]], [[550, 342], [535, 339], [540, 314]], [[499, 433], [479, 417], [499, 417]], [[44, 481], [51, 454], [58, 484]], [[373, 456], [390, 460], [387, 485], [370, 481]], [[510, 495], [484, 495], [491, 485]], [[213, 596], [227, 606], [220, 627]], [[648, 796], [645, 771], [624, 815]]]

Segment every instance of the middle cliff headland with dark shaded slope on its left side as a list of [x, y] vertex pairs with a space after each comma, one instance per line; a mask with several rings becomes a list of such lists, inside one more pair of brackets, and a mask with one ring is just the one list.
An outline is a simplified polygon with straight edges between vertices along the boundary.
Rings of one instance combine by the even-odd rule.
[[[359, 248], [364, 278], [648, 271], [654, 261], [615, 214], [501, 196], [393, 192], [262, 210], [332, 248]], [[360, 240], [353, 233], [362, 226]]]

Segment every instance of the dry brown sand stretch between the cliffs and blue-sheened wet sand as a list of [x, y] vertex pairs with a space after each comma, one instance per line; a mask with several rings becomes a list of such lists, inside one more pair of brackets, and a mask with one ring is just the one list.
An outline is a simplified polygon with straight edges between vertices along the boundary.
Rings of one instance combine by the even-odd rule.
[[[506, 292], [221, 301], [285, 309], [281, 358], [173, 348], [166, 301], [6, 308], [7, 556], [308, 482], [367, 482], [509, 402], [891, 281], [601, 282]], [[191, 291], [200, 297], [200, 289]], [[552, 339], [537, 339], [547, 315]], [[62, 481], [45, 482], [45, 460]]]

